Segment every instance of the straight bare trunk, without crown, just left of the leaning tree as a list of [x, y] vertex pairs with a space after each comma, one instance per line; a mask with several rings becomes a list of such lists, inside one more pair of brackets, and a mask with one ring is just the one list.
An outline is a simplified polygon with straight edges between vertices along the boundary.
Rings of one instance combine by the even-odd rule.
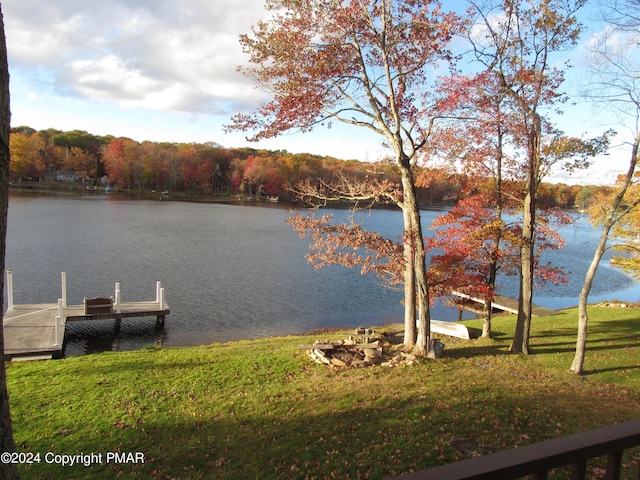
[[520, 251], [520, 292], [518, 295], [518, 319], [509, 350], [514, 353], [529, 353], [529, 332], [533, 309], [533, 273], [535, 265], [535, 225], [538, 175], [540, 170], [540, 137], [542, 121], [533, 114], [529, 132], [529, 164], [522, 218], [522, 247]]

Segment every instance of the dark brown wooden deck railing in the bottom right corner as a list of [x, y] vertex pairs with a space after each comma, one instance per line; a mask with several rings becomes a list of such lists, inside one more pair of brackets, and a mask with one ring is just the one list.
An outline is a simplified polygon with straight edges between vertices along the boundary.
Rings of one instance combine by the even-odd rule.
[[[546, 479], [550, 470], [571, 466], [572, 480], [586, 478], [587, 462], [607, 456], [606, 480], [620, 479], [624, 450], [640, 446], [640, 419], [547, 440], [512, 450], [394, 477], [395, 480], [493, 480], [533, 476]], [[640, 470], [631, 478], [640, 480]], [[625, 477], [627, 478], [627, 477]], [[393, 480], [393, 479], [392, 479]]]

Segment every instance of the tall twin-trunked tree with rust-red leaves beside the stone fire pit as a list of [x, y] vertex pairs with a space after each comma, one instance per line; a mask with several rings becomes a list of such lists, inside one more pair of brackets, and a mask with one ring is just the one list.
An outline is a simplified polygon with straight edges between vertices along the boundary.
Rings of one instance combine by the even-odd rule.
[[[424, 92], [434, 66], [450, 58], [460, 19], [431, 0], [267, 0], [267, 8], [272, 17], [241, 43], [253, 64], [244, 72], [273, 98], [235, 116], [233, 128], [257, 131], [258, 140], [338, 121], [385, 139], [403, 193], [405, 330], [415, 331], [417, 307], [414, 351], [426, 354], [429, 291], [414, 166], [433, 118]], [[405, 344], [412, 341], [405, 332]]]

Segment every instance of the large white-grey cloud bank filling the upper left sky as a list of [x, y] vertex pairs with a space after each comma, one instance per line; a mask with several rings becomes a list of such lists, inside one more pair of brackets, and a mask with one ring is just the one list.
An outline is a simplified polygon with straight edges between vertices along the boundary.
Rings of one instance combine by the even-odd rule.
[[236, 72], [262, 0], [6, 0], [10, 69], [53, 93], [127, 108], [229, 113], [259, 93]]

